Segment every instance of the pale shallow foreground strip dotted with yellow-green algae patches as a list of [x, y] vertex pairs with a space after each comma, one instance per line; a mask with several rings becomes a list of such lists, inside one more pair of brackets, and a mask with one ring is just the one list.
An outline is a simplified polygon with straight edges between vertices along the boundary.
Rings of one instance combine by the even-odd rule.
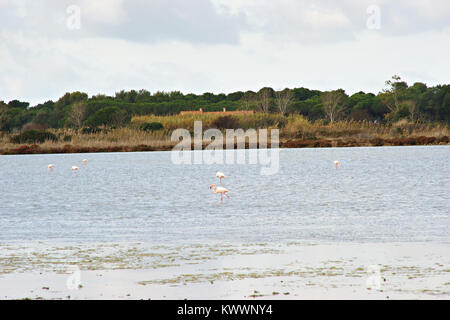
[[0, 257], [0, 299], [450, 298], [447, 244], [39, 242]]

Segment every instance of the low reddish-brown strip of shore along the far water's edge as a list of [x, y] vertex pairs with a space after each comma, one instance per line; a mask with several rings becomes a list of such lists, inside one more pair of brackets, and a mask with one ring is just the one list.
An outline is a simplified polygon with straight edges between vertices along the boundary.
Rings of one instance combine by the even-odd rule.
[[[371, 138], [371, 139], [289, 139], [280, 141], [279, 148], [345, 148], [345, 147], [380, 147], [380, 146], [436, 146], [450, 145], [450, 138], [443, 136], [436, 137], [408, 137], [408, 138]], [[132, 146], [107, 146], [107, 147], [88, 147], [65, 144], [59, 147], [41, 147], [38, 144], [23, 144], [17, 148], [0, 149], [0, 155], [19, 155], [19, 154], [58, 154], [58, 153], [99, 153], [99, 152], [142, 152], [142, 151], [171, 151], [175, 144], [169, 145], [145, 145], [138, 144]], [[207, 144], [202, 145], [202, 150]], [[224, 144], [224, 149], [226, 145]], [[268, 142], [270, 147], [270, 142]], [[191, 149], [194, 150], [194, 144]], [[234, 149], [238, 149], [237, 143]], [[249, 149], [249, 144], [245, 144], [245, 149]], [[265, 148], [264, 148], [265, 149]]]

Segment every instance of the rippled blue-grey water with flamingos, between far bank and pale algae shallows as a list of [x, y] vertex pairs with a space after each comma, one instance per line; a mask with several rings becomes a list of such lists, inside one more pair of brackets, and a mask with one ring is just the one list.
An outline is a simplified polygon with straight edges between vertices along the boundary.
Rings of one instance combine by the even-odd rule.
[[169, 152], [0, 156], [0, 241], [449, 242], [449, 160], [448, 146], [284, 149], [261, 176]]

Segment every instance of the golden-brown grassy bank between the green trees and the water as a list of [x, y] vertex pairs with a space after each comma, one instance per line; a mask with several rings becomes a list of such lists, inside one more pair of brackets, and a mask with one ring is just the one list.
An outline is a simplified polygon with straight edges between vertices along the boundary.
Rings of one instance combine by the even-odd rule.
[[[134, 117], [131, 125], [123, 128], [102, 128], [86, 133], [81, 129], [48, 130], [56, 139], [42, 143], [13, 143], [16, 134], [0, 136], [1, 154], [85, 153], [171, 150], [177, 142], [171, 141], [173, 130], [193, 131], [194, 121], [202, 121], [203, 130], [210, 128], [279, 129], [280, 147], [353, 147], [397, 145], [447, 145], [450, 128], [442, 123], [377, 124], [367, 121], [342, 121], [324, 124], [311, 122], [302, 116], [279, 114], [254, 115], [187, 115]], [[162, 129], [142, 130], [148, 123], [160, 123]]]

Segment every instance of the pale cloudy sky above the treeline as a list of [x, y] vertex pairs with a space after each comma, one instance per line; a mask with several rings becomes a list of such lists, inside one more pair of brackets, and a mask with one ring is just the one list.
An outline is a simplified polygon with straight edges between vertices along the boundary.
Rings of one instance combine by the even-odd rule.
[[450, 83], [448, 0], [0, 0], [0, 101]]

